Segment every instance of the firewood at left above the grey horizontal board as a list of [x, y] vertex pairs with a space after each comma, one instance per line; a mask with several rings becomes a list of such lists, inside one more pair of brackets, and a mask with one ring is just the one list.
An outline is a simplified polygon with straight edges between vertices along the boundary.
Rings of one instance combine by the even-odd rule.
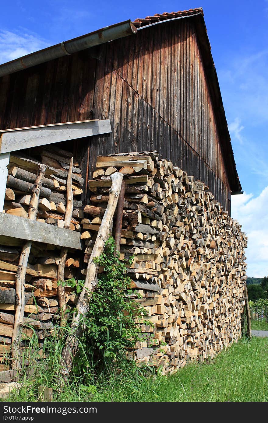
[[[36, 172], [39, 164], [44, 163], [48, 167], [40, 192], [38, 220], [63, 227], [67, 174], [72, 154], [55, 146], [50, 146], [50, 150], [44, 147], [31, 148], [28, 152], [27, 155], [20, 152], [10, 156], [4, 211], [27, 217]], [[78, 168], [78, 163], [74, 162], [72, 168], [73, 219], [70, 226], [70, 229], [74, 231], [80, 231], [80, 219], [83, 218], [80, 201], [83, 183], [81, 170]]]

